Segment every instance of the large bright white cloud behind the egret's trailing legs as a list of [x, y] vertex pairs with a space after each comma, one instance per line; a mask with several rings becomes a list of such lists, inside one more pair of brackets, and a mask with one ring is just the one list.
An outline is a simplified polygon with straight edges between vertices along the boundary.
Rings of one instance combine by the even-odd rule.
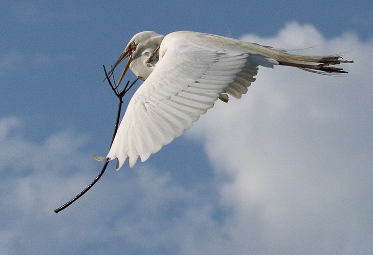
[[370, 252], [372, 229], [363, 225], [373, 223], [372, 192], [366, 194], [373, 180], [373, 44], [353, 34], [325, 39], [296, 23], [273, 38], [244, 39], [282, 49], [321, 45], [310, 53], [346, 52], [355, 63], [342, 77], [261, 68], [247, 95], [217, 102], [189, 132], [203, 134], [211, 160], [234, 178], [223, 185], [222, 202], [234, 207], [227, 228], [237, 253], [252, 245], [245, 240], [253, 212], [260, 254]]

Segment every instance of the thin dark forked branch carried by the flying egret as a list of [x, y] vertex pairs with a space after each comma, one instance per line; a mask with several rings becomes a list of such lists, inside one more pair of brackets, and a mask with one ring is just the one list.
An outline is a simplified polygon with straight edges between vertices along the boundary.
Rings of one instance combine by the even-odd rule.
[[[109, 86], [112, 88], [112, 90], [114, 91], [115, 95], [118, 97], [119, 99], [119, 103], [118, 103], [118, 111], [117, 111], [117, 118], [116, 118], [116, 121], [115, 121], [115, 126], [114, 126], [114, 134], [113, 134], [113, 138], [112, 138], [112, 142], [110, 144], [110, 146], [113, 144], [113, 141], [114, 141], [114, 138], [115, 138], [115, 135], [117, 134], [117, 131], [118, 131], [118, 125], [119, 125], [119, 118], [120, 118], [120, 112], [121, 112], [121, 109], [122, 109], [122, 98], [123, 96], [128, 92], [128, 90], [130, 88], [132, 88], [132, 86], [134, 86], [135, 82], [138, 80], [138, 79], [135, 79], [134, 82], [132, 82], [129, 86], [129, 81], [127, 82], [126, 86], [124, 87], [123, 91], [122, 92], [118, 92], [118, 86], [115, 84], [115, 81], [114, 81], [114, 75], [113, 75], [113, 82], [114, 82], [114, 86], [111, 82], [111, 80], [109, 79], [109, 77], [107, 76], [107, 73], [106, 73], [106, 69], [105, 69], [105, 66], [103, 66], [104, 68], [104, 72], [105, 72], [105, 77], [109, 83]], [[69, 205], [71, 205], [72, 203], [74, 203], [77, 199], [79, 199], [81, 196], [83, 196], [88, 190], [90, 190], [92, 188], [93, 185], [96, 184], [96, 182], [101, 178], [101, 176], [103, 175], [103, 173], [105, 172], [106, 170], [106, 167], [108, 165], [109, 161], [108, 159], [106, 159], [106, 162], [105, 164], [103, 165], [102, 169], [101, 169], [101, 172], [98, 174], [98, 176], [90, 183], [90, 185], [86, 186], [83, 191], [81, 193], [79, 193], [78, 195], [76, 195], [73, 199], [71, 199], [69, 202], [65, 203], [64, 205], [62, 205], [61, 207], [57, 208], [54, 210], [54, 212], [57, 214], [59, 211], [67, 208]]]

